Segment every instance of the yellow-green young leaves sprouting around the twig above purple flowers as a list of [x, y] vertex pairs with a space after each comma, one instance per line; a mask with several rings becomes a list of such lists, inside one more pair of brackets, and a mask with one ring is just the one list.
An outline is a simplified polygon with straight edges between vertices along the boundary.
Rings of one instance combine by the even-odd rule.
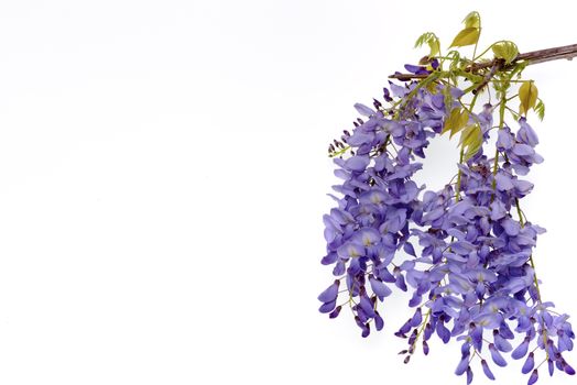
[[[424, 62], [429, 63], [433, 58], [439, 61], [439, 67], [433, 72], [429, 77], [421, 80], [422, 82], [431, 80], [433, 77], [436, 82], [445, 82], [455, 86], [461, 86], [469, 81], [471, 85], [465, 88], [465, 96], [472, 96], [470, 102], [461, 102], [461, 107], [454, 108], [445, 121], [443, 133], [449, 132], [453, 138], [460, 132], [459, 146], [461, 147], [461, 161], [467, 161], [482, 145], [482, 132], [478, 122], [471, 117], [475, 102], [480, 92], [492, 90], [499, 100], [501, 121], [504, 111], [509, 110], [515, 118], [526, 116], [530, 110], [534, 110], [540, 119], [545, 114], [545, 106], [538, 98], [538, 90], [533, 80], [521, 79], [521, 73], [526, 66], [525, 62], [516, 62], [519, 48], [511, 41], [498, 41], [489, 45], [481, 54], [476, 55], [479, 38], [481, 35], [481, 18], [478, 12], [470, 12], [462, 20], [464, 28], [453, 38], [447, 54], [440, 54], [440, 41], [433, 32], [422, 34], [415, 47], [429, 47], [428, 55]], [[473, 45], [472, 58], [467, 58], [459, 48]], [[486, 57], [488, 53], [492, 57]], [[447, 68], [447, 69], [445, 69]], [[513, 85], [520, 84], [518, 94], [508, 98], [508, 91]], [[519, 99], [519, 109], [513, 110], [509, 107], [511, 100]], [[465, 100], [465, 99], [462, 99]], [[501, 122], [502, 124], [502, 122]]]

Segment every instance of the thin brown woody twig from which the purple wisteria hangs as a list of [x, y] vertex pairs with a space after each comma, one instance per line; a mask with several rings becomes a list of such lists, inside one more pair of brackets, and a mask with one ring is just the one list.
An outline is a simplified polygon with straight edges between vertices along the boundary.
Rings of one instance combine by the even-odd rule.
[[[498, 66], [498, 68], [496, 68], [496, 72], [497, 72], [500, 68], [507, 68], [520, 62], [527, 62], [527, 65], [532, 65], [532, 64], [559, 61], [559, 59], [570, 61], [574, 57], [577, 57], [577, 44], [564, 45], [560, 47], [538, 50], [538, 51], [526, 52], [524, 54], [519, 54], [508, 66], [503, 66], [502, 64], [499, 64], [500, 62], [502, 62], [502, 59], [499, 59], [499, 58], [493, 58], [492, 61], [488, 61], [488, 62], [472, 63], [471, 65], [469, 65], [466, 68], [466, 70], [470, 73], [478, 73], [480, 69], [491, 68], [491, 72], [492, 72], [492, 69], [496, 68], [496, 65], [497, 65]], [[492, 75], [494, 75], [494, 72], [492, 73]], [[428, 76], [427, 74], [420, 74], [420, 75], [393, 74], [389, 77], [392, 79], [407, 81], [412, 79], [423, 79], [423, 78], [426, 78], [427, 76]]]

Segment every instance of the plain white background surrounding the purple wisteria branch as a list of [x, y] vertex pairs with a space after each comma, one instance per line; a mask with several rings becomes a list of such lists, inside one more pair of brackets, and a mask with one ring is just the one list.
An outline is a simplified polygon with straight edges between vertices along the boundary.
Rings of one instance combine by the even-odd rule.
[[[326, 146], [425, 54], [422, 32], [446, 46], [476, 9], [481, 44], [571, 44], [571, 6], [2, 0], [0, 383], [465, 384], [457, 344], [402, 364], [406, 298], [369, 339], [349, 314], [317, 312], [337, 182]], [[547, 114], [524, 204], [548, 230], [542, 290], [574, 316], [576, 72], [526, 70]], [[438, 188], [455, 143], [429, 154], [421, 178]], [[525, 383], [520, 366], [498, 383]]]

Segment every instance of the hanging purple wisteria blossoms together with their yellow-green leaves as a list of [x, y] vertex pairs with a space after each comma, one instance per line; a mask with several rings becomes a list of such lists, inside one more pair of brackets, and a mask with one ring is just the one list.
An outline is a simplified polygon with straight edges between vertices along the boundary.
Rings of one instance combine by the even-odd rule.
[[[477, 48], [478, 13], [465, 24], [451, 46]], [[461, 344], [455, 373], [467, 384], [479, 366], [494, 380], [491, 366], [505, 366], [509, 355], [523, 360], [530, 385], [543, 364], [552, 375], [555, 369], [573, 375], [564, 358], [575, 339], [569, 317], [543, 300], [535, 274], [544, 229], [520, 204], [533, 188], [527, 173], [543, 162], [525, 118], [544, 110], [536, 87], [519, 79], [524, 65], [513, 63], [511, 42], [493, 44], [493, 65], [478, 70], [458, 51], [442, 56], [432, 33], [417, 43], [431, 47], [421, 65], [405, 66], [405, 78], [417, 80], [390, 82], [372, 108], [356, 105], [362, 118], [329, 146], [342, 182], [334, 186], [336, 207], [323, 218], [322, 263], [333, 266], [335, 279], [318, 296], [319, 311], [335, 318], [350, 310], [367, 337], [383, 328], [384, 298], [393, 289], [410, 292], [411, 317], [395, 332], [407, 343], [405, 363], [417, 346], [428, 354], [427, 341], [437, 336]], [[491, 89], [497, 100], [487, 92], [476, 110]], [[509, 106], [513, 99], [519, 112]], [[457, 174], [443, 189], [426, 190], [413, 176], [429, 141], [445, 133], [460, 133]]]

